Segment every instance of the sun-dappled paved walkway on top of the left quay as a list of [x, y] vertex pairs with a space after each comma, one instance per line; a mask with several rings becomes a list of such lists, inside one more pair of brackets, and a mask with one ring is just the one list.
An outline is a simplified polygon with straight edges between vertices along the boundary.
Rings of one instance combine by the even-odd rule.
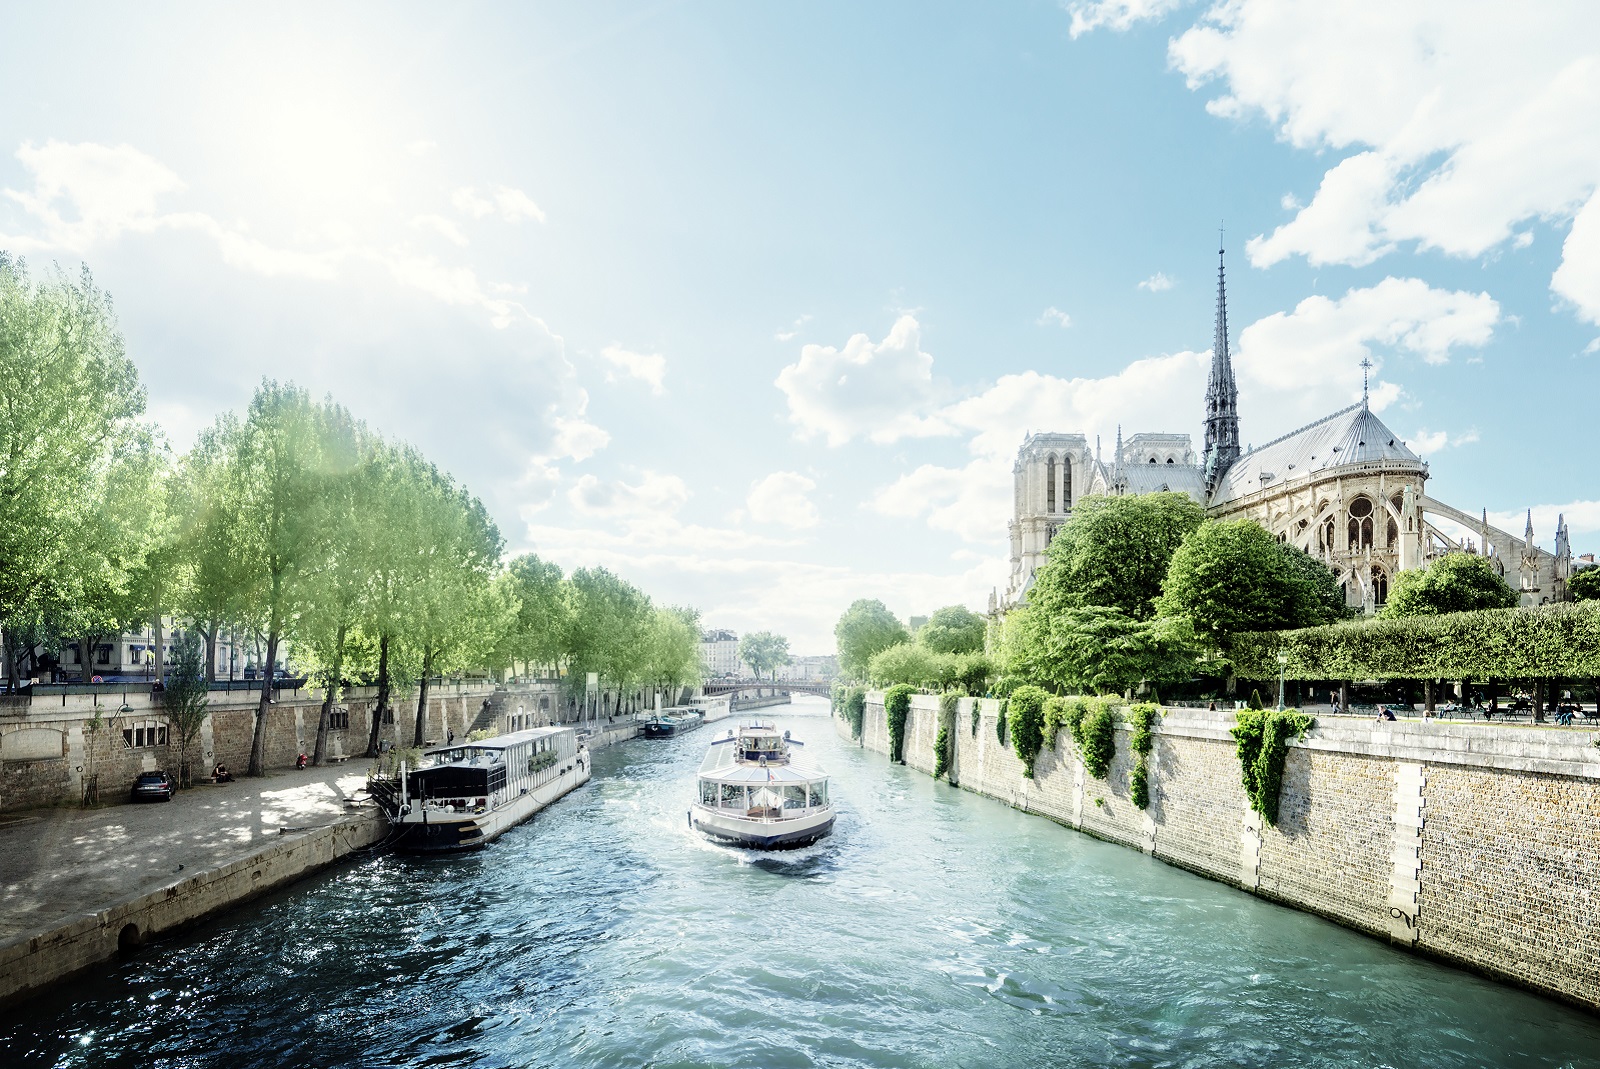
[[250, 856], [280, 829], [331, 824], [365, 802], [370, 763], [200, 784], [171, 802], [0, 816], [0, 943]]

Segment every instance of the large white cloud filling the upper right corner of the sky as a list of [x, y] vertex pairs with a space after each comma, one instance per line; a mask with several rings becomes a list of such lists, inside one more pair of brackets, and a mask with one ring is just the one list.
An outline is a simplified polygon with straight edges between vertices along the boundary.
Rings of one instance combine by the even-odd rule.
[[1520, 224], [1571, 222], [1550, 288], [1600, 322], [1597, 40], [1587, 0], [1227, 0], [1170, 59], [1192, 88], [1221, 88], [1213, 114], [1339, 157], [1309, 205], [1286, 202], [1294, 218], [1250, 242], [1254, 264], [1366, 264], [1402, 243], [1482, 256], [1526, 243]]

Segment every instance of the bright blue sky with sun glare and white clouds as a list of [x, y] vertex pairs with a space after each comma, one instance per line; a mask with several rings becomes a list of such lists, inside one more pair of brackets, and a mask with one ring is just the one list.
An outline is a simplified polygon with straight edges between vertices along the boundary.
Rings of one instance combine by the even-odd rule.
[[1219, 237], [1246, 442], [1371, 358], [1600, 549], [1594, 3], [8, 5], [0, 101], [174, 451], [290, 379], [794, 653], [1003, 591], [1026, 432], [1198, 448]]

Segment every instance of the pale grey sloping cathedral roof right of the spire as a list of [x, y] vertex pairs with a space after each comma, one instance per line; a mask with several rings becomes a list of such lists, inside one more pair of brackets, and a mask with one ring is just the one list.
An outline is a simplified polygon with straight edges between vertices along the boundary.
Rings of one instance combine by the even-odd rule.
[[1211, 504], [1226, 504], [1307, 474], [1373, 462], [1422, 467], [1422, 458], [1366, 405], [1350, 405], [1240, 456], [1222, 475]]

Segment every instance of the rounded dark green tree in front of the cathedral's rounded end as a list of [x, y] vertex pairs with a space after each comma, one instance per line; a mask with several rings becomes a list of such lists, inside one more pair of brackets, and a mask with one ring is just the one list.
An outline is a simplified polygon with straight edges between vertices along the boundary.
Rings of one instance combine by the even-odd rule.
[[[1307, 563], [1309, 562], [1309, 563]], [[1328, 624], [1344, 610], [1331, 573], [1254, 520], [1208, 520], [1173, 554], [1158, 610], [1184, 616], [1213, 645], [1246, 631]]]

